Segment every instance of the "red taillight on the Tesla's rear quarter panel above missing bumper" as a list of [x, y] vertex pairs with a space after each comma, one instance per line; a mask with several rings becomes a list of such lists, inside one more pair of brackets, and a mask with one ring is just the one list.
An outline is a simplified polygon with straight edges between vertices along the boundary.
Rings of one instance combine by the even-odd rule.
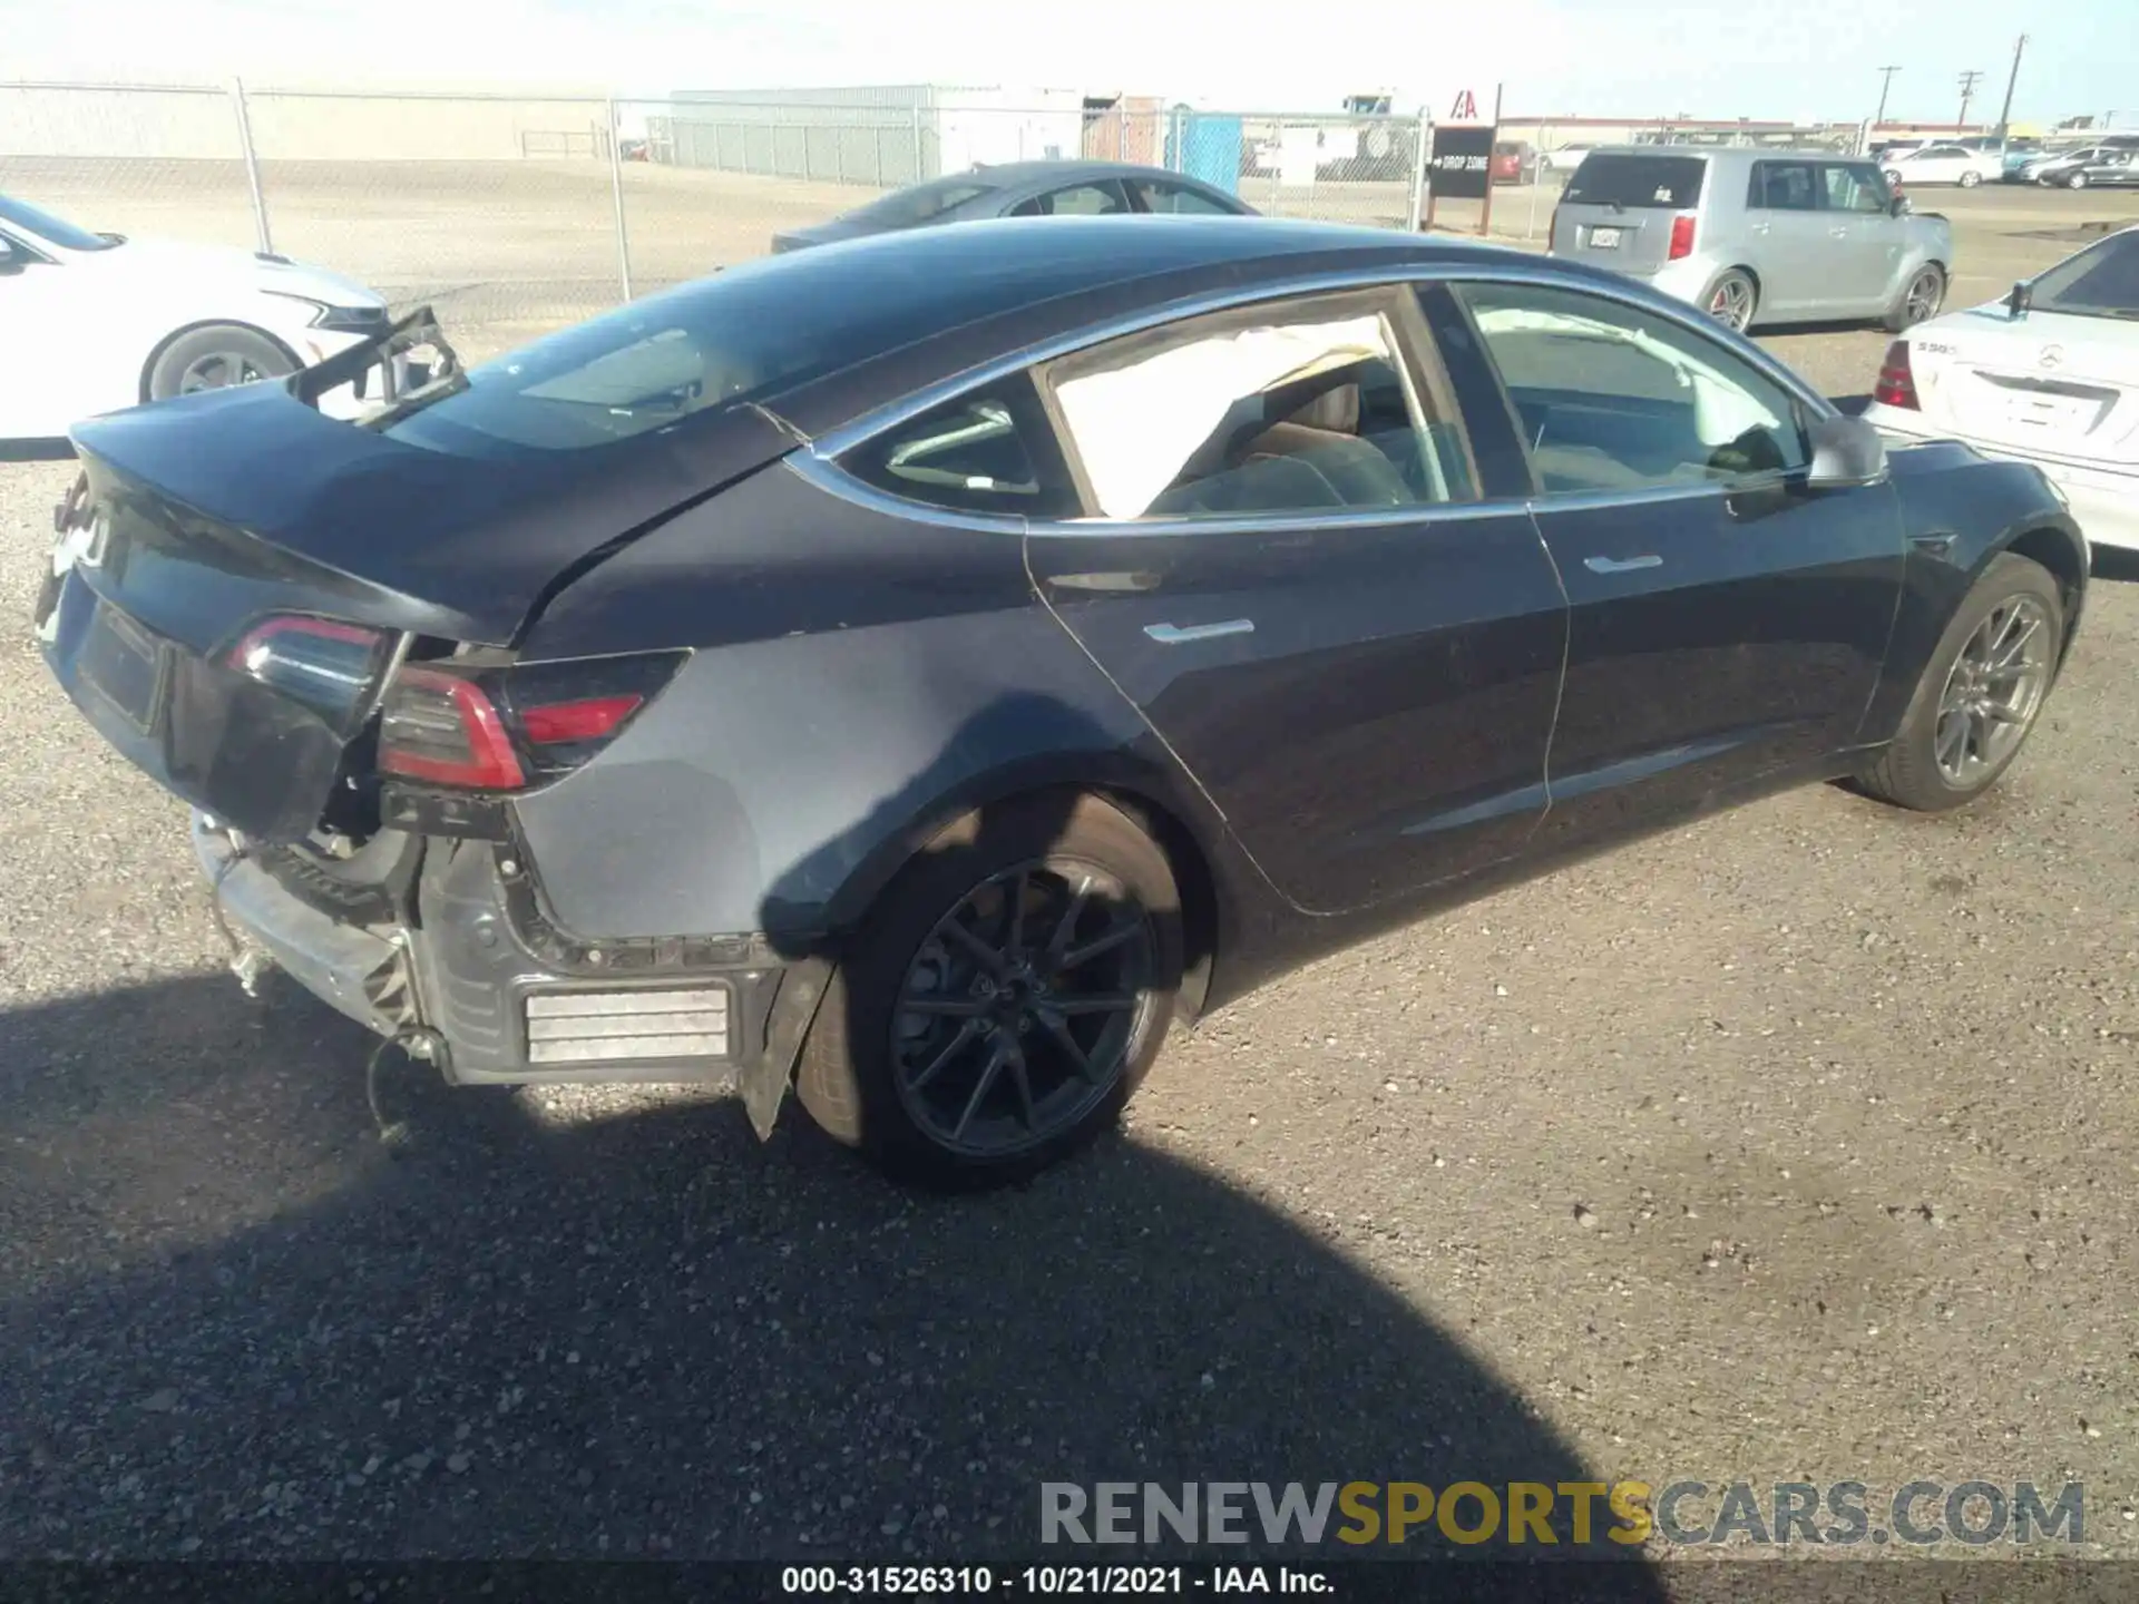
[[616, 740], [682, 663], [642, 652], [575, 663], [411, 663], [379, 710], [379, 768], [404, 781], [518, 791]]

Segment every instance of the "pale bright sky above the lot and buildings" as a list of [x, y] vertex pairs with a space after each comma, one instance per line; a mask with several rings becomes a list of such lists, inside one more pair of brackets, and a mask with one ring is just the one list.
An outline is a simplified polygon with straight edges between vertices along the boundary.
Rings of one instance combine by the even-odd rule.
[[[811, 88], [963, 83], [1337, 109], [1459, 90], [1510, 115], [1857, 120], [2113, 111], [2139, 128], [2135, 0], [0, 0], [0, 79]], [[4, 90], [0, 90], [4, 92]]]

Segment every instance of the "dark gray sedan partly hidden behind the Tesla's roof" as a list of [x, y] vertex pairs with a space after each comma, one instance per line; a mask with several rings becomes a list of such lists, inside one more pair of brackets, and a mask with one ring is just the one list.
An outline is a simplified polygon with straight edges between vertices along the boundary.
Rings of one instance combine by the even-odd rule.
[[1129, 163], [1005, 163], [892, 190], [830, 222], [772, 235], [774, 250], [802, 250], [868, 233], [984, 218], [1258, 216], [1238, 195], [1164, 167]]

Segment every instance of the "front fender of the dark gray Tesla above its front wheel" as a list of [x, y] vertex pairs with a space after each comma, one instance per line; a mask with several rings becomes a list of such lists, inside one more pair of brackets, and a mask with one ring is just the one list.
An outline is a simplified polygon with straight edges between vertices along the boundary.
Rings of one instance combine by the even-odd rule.
[[1887, 667], [1865, 710], [1867, 742], [1889, 740], [1899, 727], [1938, 637], [1994, 556], [2021, 541], [2028, 556], [2064, 567], [2066, 648], [2081, 620], [2088, 571], [2079, 526], [2030, 464], [1983, 458], [1959, 443], [1902, 447], [1889, 462], [1910, 552]]

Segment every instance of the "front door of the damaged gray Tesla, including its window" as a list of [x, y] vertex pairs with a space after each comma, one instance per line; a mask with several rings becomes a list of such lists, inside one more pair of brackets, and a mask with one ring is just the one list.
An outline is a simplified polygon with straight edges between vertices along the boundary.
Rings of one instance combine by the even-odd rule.
[[1852, 746], [1902, 588], [1891, 485], [1810, 492], [1801, 402], [1720, 334], [1574, 289], [1461, 297], [1570, 601], [1540, 845]]

